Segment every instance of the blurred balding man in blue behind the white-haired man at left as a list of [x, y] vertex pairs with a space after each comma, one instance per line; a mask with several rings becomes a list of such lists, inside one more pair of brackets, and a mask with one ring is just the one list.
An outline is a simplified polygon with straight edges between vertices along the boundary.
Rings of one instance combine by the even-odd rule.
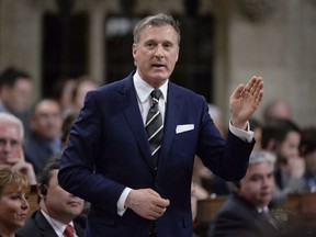
[[29, 140], [24, 145], [26, 161], [33, 163], [35, 173], [43, 169], [47, 160], [61, 154], [61, 111], [56, 100], [42, 99], [32, 110]]

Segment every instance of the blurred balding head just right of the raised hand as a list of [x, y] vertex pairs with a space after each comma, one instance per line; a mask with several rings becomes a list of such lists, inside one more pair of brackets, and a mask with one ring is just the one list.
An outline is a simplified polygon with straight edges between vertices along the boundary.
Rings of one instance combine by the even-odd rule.
[[285, 100], [276, 99], [267, 104], [263, 109], [263, 123], [274, 119], [291, 120], [291, 108]]

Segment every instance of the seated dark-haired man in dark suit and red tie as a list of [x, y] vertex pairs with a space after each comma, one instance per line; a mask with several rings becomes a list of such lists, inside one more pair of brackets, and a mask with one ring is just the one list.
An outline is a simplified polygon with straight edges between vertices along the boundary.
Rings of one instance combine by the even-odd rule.
[[[18, 230], [21, 236], [68, 236], [70, 228], [75, 236], [83, 236], [84, 218], [80, 215], [83, 200], [68, 193], [58, 184], [60, 157], [53, 157], [38, 177], [37, 193], [40, 210]], [[70, 226], [70, 227], [69, 227]]]

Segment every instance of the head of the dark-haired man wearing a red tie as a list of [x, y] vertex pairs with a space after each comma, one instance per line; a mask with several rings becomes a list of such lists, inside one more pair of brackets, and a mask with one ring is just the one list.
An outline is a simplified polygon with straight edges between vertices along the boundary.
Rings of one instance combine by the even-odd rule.
[[82, 213], [83, 200], [59, 185], [59, 165], [60, 156], [54, 156], [38, 176], [40, 208], [54, 219], [68, 224]]

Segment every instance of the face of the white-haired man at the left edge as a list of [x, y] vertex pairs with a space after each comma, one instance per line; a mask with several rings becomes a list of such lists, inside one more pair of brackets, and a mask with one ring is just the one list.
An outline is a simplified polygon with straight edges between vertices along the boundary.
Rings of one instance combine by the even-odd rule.
[[21, 159], [22, 140], [19, 127], [11, 123], [0, 123], [0, 165], [13, 166]]

